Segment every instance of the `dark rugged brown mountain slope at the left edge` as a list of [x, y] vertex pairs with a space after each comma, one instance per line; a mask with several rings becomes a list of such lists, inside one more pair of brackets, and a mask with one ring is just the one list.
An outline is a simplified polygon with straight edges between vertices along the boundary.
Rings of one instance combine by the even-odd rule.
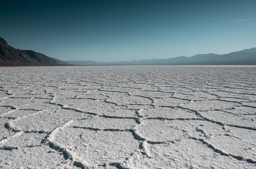
[[13, 48], [0, 37], [0, 65], [60, 65], [60, 63], [33, 50]]

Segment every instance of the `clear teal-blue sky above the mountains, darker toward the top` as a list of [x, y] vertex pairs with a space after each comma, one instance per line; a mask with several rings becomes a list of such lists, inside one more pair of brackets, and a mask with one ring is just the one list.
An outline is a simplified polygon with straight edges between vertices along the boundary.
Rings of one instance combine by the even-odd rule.
[[224, 54], [256, 47], [255, 0], [1, 1], [0, 36], [66, 60]]

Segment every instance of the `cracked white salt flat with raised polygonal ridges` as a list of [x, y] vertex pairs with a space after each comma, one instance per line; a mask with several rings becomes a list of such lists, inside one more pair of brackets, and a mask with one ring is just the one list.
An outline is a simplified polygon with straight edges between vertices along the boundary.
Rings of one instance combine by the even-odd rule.
[[255, 66], [0, 68], [0, 168], [256, 168]]

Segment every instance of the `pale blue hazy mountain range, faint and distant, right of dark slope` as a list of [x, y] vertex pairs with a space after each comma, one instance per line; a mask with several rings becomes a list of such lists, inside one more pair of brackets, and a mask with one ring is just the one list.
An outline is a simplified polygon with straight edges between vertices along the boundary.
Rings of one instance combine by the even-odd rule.
[[122, 65], [122, 64], [191, 64], [191, 65], [255, 65], [256, 64], [256, 48], [245, 49], [229, 54], [197, 54], [191, 57], [172, 57], [169, 59], [145, 59], [136, 61], [120, 61], [120, 62], [95, 62], [95, 61], [67, 61], [76, 65]]

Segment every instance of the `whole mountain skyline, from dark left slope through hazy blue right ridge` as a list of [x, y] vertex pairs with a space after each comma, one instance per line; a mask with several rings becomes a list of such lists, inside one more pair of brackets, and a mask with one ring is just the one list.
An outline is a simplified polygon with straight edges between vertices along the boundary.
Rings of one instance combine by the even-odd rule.
[[119, 62], [61, 61], [33, 50], [20, 50], [11, 47], [0, 37], [1, 65], [256, 65], [256, 48], [245, 49], [229, 54], [198, 54], [191, 57], [169, 59], [145, 59]]

